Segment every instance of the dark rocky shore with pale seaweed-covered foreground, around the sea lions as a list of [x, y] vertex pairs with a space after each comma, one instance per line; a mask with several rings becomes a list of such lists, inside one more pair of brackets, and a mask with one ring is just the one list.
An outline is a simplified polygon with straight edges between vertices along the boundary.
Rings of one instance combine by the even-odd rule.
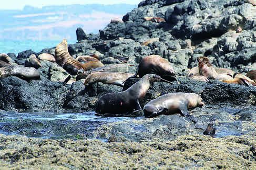
[[[189, 69], [198, 65], [198, 56], [207, 56], [214, 66], [239, 73], [256, 70], [255, 5], [249, 0], [142, 1], [138, 8], [122, 20], [111, 21], [97, 35], [86, 35], [79, 28], [78, 42], [68, 45], [68, 52], [74, 58], [96, 54], [105, 66], [116, 64], [116, 72], [135, 73], [139, 62], [147, 55], [158, 54], [167, 59], [179, 83], [154, 83], [141, 101], [141, 107], [166, 93], [197, 93], [206, 106], [190, 111], [198, 119], [196, 124], [177, 114], [97, 125], [39, 120], [6, 123], [5, 114], [13, 111], [94, 111], [100, 96], [127, 89], [139, 78], [127, 81], [124, 89], [103, 83], [85, 87], [84, 80], [64, 85], [60, 80], [69, 74], [49, 61], [41, 61], [40, 80], [26, 81], [15, 76], [0, 78], [0, 110], [3, 110], [0, 122], [5, 122], [0, 126], [1, 131], [28, 137], [34, 137], [32, 132], [36, 132], [44, 137], [46, 131], [60, 128], [62, 130], [56, 134], [79, 134], [85, 139], [1, 135], [0, 167], [255, 168], [256, 87], [213, 80], [204, 83], [185, 77]], [[54, 55], [54, 51], [55, 48], [38, 53], [26, 50], [17, 56], [8, 55], [17, 64], [24, 65], [31, 54]], [[140, 116], [141, 112], [134, 115]], [[212, 120], [218, 121], [218, 139], [202, 135]], [[94, 128], [83, 130], [89, 127]]]

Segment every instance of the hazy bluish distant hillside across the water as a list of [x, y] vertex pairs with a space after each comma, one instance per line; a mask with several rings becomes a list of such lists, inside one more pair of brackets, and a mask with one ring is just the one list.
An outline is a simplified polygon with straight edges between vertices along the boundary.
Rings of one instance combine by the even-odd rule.
[[67, 5], [23, 10], [0, 10], [1, 40], [76, 39], [76, 28], [98, 33], [111, 20], [121, 18], [136, 5]]

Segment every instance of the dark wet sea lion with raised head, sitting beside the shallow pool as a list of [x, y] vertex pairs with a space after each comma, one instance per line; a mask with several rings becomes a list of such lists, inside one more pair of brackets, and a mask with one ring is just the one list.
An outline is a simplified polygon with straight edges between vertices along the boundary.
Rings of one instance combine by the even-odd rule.
[[101, 96], [96, 106], [97, 116], [128, 116], [141, 110], [139, 100], [145, 97], [153, 82], [160, 81], [156, 74], [146, 74], [124, 92], [108, 93]]

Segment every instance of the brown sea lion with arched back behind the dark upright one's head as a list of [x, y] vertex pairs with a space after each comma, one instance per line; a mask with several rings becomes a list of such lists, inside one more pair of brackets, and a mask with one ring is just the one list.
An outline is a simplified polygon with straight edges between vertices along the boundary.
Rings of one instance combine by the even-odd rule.
[[146, 74], [156, 74], [161, 77], [168, 77], [171, 78], [171, 80], [176, 80], [174, 77], [175, 71], [172, 69], [172, 66], [160, 55], [148, 55], [143, 58], [137, 67], [135, 75], [129, 78], [137, 77], [137, 75], [143, 77]]

